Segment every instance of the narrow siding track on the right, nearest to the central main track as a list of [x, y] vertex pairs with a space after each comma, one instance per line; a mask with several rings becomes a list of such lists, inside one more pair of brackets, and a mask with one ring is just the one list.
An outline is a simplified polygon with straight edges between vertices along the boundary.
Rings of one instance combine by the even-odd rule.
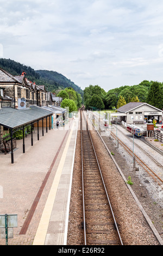
[[[127, 147], [126, 144], [124, 144], [120, 138], [118, 138], [114, 132], [111, 131], [111, 135], [112, 137], [114, 137], [115, 139], [118, 139], [118, 142], [122, 145], [122, 147], [131, 155], [135, 157], [135, 161], [143, 168], [146, 170], [146, 172], [153, 178], [153, 180], [155, 180], [155, 182], [161, 186], [161, 188], [163, 188], [163, 180], [151, 169], [147, 166], [147, 164], [145, 162], [143, 162], [140, 157], [138, 157], [135, 153], [133, 154], [133, 151]], [[162, 168], [162, 167], [161, 167]]]

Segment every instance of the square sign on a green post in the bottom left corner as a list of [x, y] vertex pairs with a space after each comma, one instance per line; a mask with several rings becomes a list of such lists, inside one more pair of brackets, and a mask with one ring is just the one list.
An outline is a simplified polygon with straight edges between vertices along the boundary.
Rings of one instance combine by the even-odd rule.
[[5, 228], [5, 245], [8, 245], [8, 228], [17, 227], [17, 214], [0, 215], [0, 228]]

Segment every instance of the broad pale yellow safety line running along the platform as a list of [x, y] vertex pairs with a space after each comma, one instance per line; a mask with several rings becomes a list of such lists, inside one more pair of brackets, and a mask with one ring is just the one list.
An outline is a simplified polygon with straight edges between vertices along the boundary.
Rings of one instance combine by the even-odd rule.
[[54, 204], [55, 196], [56, 196], [59, 181], [60, 181], [60, 176], [61, 176], [61, 173], [62, 173], [62, 169], [64, 167], [68, 147], [69, 147], [69, 144], [70, 144], [70, 141], [71, 141], [73, 126], [74, 126], [74, 123], [71, 127], [70, 135], [68, 136], [64, 152], [62, 154], [57, 172], [56, 172], [54, 180], [53, 180], [51, 190], [50, 190], [48, 198], [47, 198], [47, 202], [45, 204], [45, 208], [42, 212], [41, 220], [40, 220], [40, 223], [39, 223], [39, 227], [37, 228], [37, 231], [36, 231], [36, 235], [35, 235], [33, 245], [44, 245], [44, 243], [45, 243], [48, 224], [49, 224], [49, 221], [50, 221], [50, 218], [51, 218], [53, 204]]

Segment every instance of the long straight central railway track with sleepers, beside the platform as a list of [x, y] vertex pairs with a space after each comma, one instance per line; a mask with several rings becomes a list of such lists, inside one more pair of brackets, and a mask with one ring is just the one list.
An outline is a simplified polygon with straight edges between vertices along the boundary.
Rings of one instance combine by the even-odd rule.
[[84, 245], [123, 245], [83, 111], [80, 111]]

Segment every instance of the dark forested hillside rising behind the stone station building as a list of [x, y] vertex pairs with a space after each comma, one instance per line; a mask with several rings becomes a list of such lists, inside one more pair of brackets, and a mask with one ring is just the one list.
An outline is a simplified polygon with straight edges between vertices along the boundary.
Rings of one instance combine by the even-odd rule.
[[55, 90], [57, 93], [61, 89], [72, 87], [76, 92], [83, 96], [83, 90], [79, 86], [58, 72], [34, 70], [30, 66], [15, 62], [15, 60], [4, 58], [0, 58], [0, 67], [13, 76], [21, 75], [23, 71], [26, 72], [26, 77], [30, 81], [35, 82], [38, 86], [44, 84], [49, 92]]

